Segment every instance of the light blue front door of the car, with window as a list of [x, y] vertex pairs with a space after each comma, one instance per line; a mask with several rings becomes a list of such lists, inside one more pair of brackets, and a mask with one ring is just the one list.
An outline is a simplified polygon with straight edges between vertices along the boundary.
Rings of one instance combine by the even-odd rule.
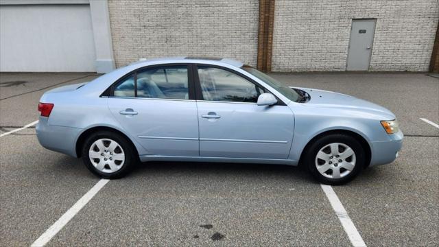
[[286, 159], [294, 115], [283, 104], [258, 106], [264, 92], [237, 73], [198, 66], [200, 156]]

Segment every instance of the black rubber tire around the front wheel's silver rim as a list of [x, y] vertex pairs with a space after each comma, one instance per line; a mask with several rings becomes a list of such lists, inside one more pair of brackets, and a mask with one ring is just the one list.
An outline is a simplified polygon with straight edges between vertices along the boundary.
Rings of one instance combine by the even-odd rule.
[[[320, 174], [317, 168], [316, 163], [324, 162], [323, 160], [317, 159], [318, 152], [324, 148], [325, 146], [331, 144], [331, 143], [342, 143], [344, 145], [347, 145], [349, 148], [351, 148], [355, 154], [355, 166], [351, 170], [350, 173], [348, 173], [345, 176], [342, 176], [341, 178], [328, 178], [327, 176], [332, 176], [333, 169], [337, 169], [333, 167], [333, 169], [329, 169], [327, 171], [327, 174], [325, 173]], [[340, 145], [340, 149], [344, 148], [343, 145]], [[331, 148], [329, 148], [331, 150]], [[326, 150], [325, 150], [326, 151]], [[326, 153], [326, 152], [325, 152]], [[341, 156], [342, 154], [340, 154]], [[317, 139], [316, 141], [313, 141], [311, 145], [305, 150], [305, 156], [304, 158], [304, 165], [307, 167], [309, 172], [316, 178], [320, 183], [324, 183], [326, 185], [343, 185], [345, 183], [348, 183], [349, 181], [353, 180], [359, 172], [363, 169], [366, 161], [366, 152], [364, 152], [363, 147], [361, 146], [361, 143], [357, 141], [354, 137], [351, 137], [348, 134], [328, 134], [324, 137], [321, 137], [320, 139]], [[351, 156], [352, 161], [352, 156]], [[324, 163], [323, 165], [326, 165], [327, 163]], [[329, 164], [329, 163], [328, 163]], [[337, 165], [337, 163], [331, 163], [332, 165]], [[320, 165], [319, 165], [320, 166]], [[338, 169], [341, 171], [341, 169], [338, 167]], [[345, 172], [346, 169], [343, 170]], [[346, 170], [348, 171], [348, 170]]]

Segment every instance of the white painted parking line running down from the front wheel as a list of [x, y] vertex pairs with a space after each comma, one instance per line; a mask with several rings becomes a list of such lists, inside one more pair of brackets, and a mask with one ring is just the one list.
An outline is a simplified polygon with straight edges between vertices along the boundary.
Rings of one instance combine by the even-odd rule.
[[337, 194], [332, 189], [332, 187], [329, 185], [320, 186], [322, 187], [324, 193], [327, 195], [329, 202], [331, 202], [331, 206], [334, 209], [338, 220], [340, 220], [340, 222], [342, 223], [344, 231], [348, 235], [349, 240], [351, 240], [351, 244], [355, 247], [366, 246], [366, 243], [364, 243], [363, 238], [361, 238], [361, 235], [359, 235], [357, 228], [349, 217], [348, 212], [346, 212], [346, 210], [344, 209], [342, 202], [340, 202], [340, 199], [338, 199]]

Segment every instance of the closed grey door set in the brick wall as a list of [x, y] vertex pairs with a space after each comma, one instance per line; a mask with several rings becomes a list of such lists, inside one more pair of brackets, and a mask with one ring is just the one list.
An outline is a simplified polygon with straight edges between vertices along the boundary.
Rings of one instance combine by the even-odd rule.
[[375, 19], [353, 20], [348, 50], [348, 71], [367, 71], [372, 54]]

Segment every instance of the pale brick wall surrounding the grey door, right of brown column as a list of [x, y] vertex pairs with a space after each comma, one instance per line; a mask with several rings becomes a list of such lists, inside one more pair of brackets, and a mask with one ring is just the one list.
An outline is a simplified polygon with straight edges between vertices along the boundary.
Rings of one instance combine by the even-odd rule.
[[273, 71], [344, 71], [352, 19], [377, 19], [371, 71], [428, 71], [438, 0], [276, 0]]

